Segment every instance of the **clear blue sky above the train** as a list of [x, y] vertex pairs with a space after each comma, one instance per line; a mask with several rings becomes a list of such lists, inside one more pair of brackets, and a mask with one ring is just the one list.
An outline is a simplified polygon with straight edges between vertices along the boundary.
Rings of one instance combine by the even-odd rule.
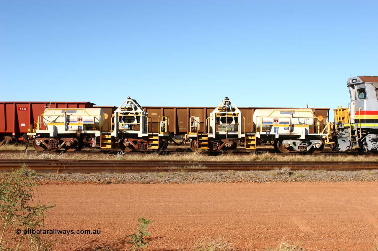
[[0, 101], [347, 106], [378, 1], [0, 0]]

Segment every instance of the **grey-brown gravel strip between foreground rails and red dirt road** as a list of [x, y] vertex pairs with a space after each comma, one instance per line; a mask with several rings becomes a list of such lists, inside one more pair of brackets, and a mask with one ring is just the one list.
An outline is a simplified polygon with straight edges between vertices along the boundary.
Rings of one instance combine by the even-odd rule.
[[288, 168], [270, 171], [36, 174], [39, 184], [169, 184], [267, 182], [376, 182], [378, 170], [326, 171]]

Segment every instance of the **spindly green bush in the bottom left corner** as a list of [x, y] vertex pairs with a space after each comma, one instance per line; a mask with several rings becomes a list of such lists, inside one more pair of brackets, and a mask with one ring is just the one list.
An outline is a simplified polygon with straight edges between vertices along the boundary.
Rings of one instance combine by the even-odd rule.
[[47, 210], [54, 206], [37, 203], [34, 172], [21, 167], [0, 173], [0, 250], [51, 250], [53, 242], [23, 230], [45, 230]]

